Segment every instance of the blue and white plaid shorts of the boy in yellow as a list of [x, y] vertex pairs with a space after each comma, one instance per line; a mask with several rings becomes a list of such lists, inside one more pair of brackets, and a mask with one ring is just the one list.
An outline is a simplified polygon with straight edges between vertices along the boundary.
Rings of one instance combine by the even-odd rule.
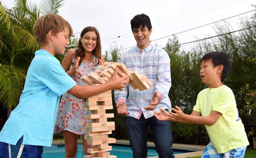
[[226, 153], [218, 154], [217, 150], [212, 145], [212, 142], [206, 146], [204, 153], [201, 158], [243, 158], [247, 146], [239, 147], [236, 149], [229, 150]]

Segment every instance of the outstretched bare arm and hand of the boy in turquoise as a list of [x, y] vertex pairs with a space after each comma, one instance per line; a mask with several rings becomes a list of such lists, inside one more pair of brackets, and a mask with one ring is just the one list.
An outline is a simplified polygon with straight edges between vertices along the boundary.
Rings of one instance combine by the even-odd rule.
[[73, 96], [75, 96], [76, 98], [82, 99], [82, 98], [87, 98], [87, 97], [102, 93], [107, 90], [120, 89], [121, 87], [126, 87], [126, 83], [129, 82], [129, 80], [126, 80], [126, 78], [128, 78], [129, 76], [119, 77], [117, 75], [117, 72], [118, 71], [116, 69], [112, 79], [107, 83], [100, 84], [93, 87], [75, 85], [68, 92]]

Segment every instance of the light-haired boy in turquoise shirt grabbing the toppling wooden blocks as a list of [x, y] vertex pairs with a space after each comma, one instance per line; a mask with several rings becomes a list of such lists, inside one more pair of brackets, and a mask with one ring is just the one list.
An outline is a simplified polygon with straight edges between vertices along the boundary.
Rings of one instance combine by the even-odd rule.
[[[43, 146], [52, 146], [53, 129], [60, 96], [68, 91], [76, 98], [86, 98], [101, 92], [125, 87], [126, 77], [117, 70], [110, 82], [93, 86], [78, 86], [65, 73], [55, 54], [64, 54], [72, 35], [68, 21], [57, 14], [38, 18], [34, 35], [40, 50], [35, 52], [26, 77], [19, 105], [12, 111], [0, 132], [0, 157], [42, 157]], [[76, 63], [80, 59], [76, 59]]]

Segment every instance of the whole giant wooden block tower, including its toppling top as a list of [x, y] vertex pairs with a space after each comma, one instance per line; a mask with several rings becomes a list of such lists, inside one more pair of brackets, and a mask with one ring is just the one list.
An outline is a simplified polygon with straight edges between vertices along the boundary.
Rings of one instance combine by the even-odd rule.
[[[124, 63], [118, 62], [104, 62], [95, 73], [83, 75], [81, 79], [93, 88], [94, 85], [109, 82], [117, 67], [120, 77], [130, 75], [129, 84], [133, 89], [138, 88], [142, 91], [153, 85], [145, 74], [139, 74], [138, 71], [130, 73]], [[122, 91], [124, 88], [119, 90]], [[107, 118], [113, 118], [114, 114], [106, 114], [106, 110], [113, 109], [111, 90], [83, 99], [83, 108], [85, 111], [91, 111], [91, 115], [85, 116], [92, 122], [85, 123], [87, 135], [84, 138], [87, 139], [88, 144], [93, 146], [93, 148], [87, 149], [91, 155], [85, 155], [84, 158], [116, 158], [115, 155], [110, 155], [108, 152], [112, 150], [112, 146], [108, 146], [108, 144], [116, 143], [115, 138], [108, 138], [108, 134], [112, 134], [112, 130], [115, 130], [115, 122], [107, 121]]]

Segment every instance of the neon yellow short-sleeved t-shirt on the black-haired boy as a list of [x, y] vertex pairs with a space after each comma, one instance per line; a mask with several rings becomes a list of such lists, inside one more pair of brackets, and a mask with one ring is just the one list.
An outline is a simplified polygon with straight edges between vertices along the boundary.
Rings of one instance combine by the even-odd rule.
[[228, 86], [200, 91], [193, 110], [200, 112], [202, 116], [209, 116], [211, 111], [222, 114], [214, 125], [205, 125], [218, 153], [249, 145], [244, 124], [238, 117], [235, 96]]

